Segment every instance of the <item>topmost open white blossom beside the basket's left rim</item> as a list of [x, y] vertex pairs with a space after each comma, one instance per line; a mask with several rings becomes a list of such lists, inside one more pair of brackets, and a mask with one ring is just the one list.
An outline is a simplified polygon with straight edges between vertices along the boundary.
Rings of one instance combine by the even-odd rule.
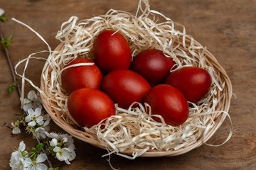
[[[24, 101], [23, 101], [24, 100]], [[35, 91], [29, 91], [27, 98], [21, 98], [21, 101], [24, 102], [23, 110], [28, 111], [30, 108], [36, 109], [41, 108], [42, 109], [42, 100], [39, 96], [39, 94], [36, 94]]]

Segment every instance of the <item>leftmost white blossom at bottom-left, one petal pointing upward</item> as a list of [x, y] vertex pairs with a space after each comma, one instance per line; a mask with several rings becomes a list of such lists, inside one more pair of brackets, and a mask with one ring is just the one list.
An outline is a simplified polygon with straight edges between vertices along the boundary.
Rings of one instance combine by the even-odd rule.
[[10, 166], [13, 170], [23, 169], [28, 152], [25, 151], [26, 145], [23, 141], [19, 143], [18, 150], [11, 153]]

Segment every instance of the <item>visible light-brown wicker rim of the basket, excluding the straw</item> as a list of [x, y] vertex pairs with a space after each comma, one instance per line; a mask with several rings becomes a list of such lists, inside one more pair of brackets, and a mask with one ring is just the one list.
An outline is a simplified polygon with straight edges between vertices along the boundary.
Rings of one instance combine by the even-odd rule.
[[[179, 37], [180, 40], [176, 40], [174, 43], [181, 43], [185, 42], [186, 45], [191, 43], [191, 39], [189, 37], [186, 37], [185, 41], [183, 40], [183, 37]], [[199, 42], [196, 40], [193, 40], [193, 44], [195, 46], [202, 46]], [[58, 47], [55, 48], [55, 51], [58, 51], [63, 47], [63, 43], [60, 43]], [[183, 45], [180, 46], [183, 48], [182, 50], [186, 51], [186, 47]], [[55, 53], [53, 53], [55, 55]], [[214, 71], [218, 75], [218, 79], [222, 82], [220, 84], [225, 84], [224, 88], [222, 91], [218, 90], [216, 96], [220, 98], [220, 101], [218, 102], [218, 105], [215, 108], [215, 111], [220, 111], [220, 113], [215, 113], [212, 115], [213, 120], [214, 120], [214, 125], [213, 127], [208, 131], [208, 133], [204, 137], [199, 137], [197, 140], [191, 141], [189, 144], [179, 148], [179, 149], [170, 149], [168, 151], [158, 151], [158, 150], [151, 150], [147, 151], [144, 154], [141, 155], [141, 157], [164, 157], [164, 156], [176, 156], [179, 154], [184, 154], [186, 152], [191, 151], [192, 149], [201, 146], [204, 142], [208, 141], [210, 137], [213, 136], [216, 130], [220, 127], [220, 125], [223, 123], [225, 120], [226, 114], [223, 114], [224, 112], [228, 112], [230, 108], [230, 100], [232, 96], [232, 85], [230, 82], [230, 79], [228, 78], [228, 75], [226, 74], [225, 70], [223, 67], [220, 66], [218, 61], [215, 59], [215, 57], [208, 52], [208, 50], [204, 51], [203, 57], [205, 58], [206, 64], [210, 67], [213, 67]], [[73, 135], [74, 137], [78, 138], [79, 140], [82, 140], [84, 142], [89, 143], [90, 145], [94, 145], [96, 147], [100, 147], [102, 149], [106, 149], [107, 143], [106, 142], [101, 142], [100, 140], [97, 139], [95, 135], [92, 135], [90, 133], [85, 132], [81, 128], [78, 128], [76, 125], [71, 125], [67, 123], [62, 117], [62, 113], [60, 111], [59, 106], [57, 103], [49, 100], [48, 94], [50, 93], [49, 89], [47, 88], [48, 86], [45, 86], [45, 82], [48, 81], [46, 80], [46, 74], [48, 76], [48, 79], [50, 79], [50, 72], [51, 72], [51, 67], [49, 62], [46, 62], [45, 67], [44, 67], [44, 72], [42, 72], [41, 76], [41, 90], [46, 94], [43, 95], [41, 94], [41, 98], [43, 101], [43, 107], [46, 109], [47, 113], [50, 115], [50, 117], [53, 119], [53, 121], [63, 130], [68, 132], [70, 135]], [[46, 72], [47, 70], [47, 72]], [[227, 94], [227, 95], [223, 95]], [[221, 96], [221, 97], [220, 97]], [[132, 155], [132, 150], [131, 149], [126, 149], [122, 154], [129, 154]]]

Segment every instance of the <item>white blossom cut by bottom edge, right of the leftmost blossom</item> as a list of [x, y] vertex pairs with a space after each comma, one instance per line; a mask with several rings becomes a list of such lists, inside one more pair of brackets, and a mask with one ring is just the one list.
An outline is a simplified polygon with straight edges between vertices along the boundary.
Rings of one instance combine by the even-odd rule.
[[24, 162], [24, 167], [26, 170], [47, 170], [48, 167], [46, 164], [42, 164], [47, 159], [46, 154], [39, 154], [36, 160], [31, 160], [26, 158]]

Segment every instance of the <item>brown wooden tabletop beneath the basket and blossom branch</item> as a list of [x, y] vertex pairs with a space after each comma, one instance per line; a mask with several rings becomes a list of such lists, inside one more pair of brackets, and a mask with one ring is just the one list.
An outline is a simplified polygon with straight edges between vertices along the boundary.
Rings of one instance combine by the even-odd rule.
[[[32, 52], [47, 50], [46, 45], [27, 28], [11, 21], [17, 18], [40, 33], [53, 49], [59, 44], [55, 34], [61, 23], [70, 16], [91, 18], [105, 14], [110, 8], [135, 14], [137, 0], [0, 0], [0, 8], [6, 11], [8, 20], [1, 23], [5, 37], [13, 35], [9, 47], [11, 60], [16, 64]], [[256, 1], [186, 1], [151, 0], [151, 8], [164, 13], [174, 21], [186, 26], [186, 33], [208, 47], [225, 68], [232, 83], [234, 97], [229, 114], [233, 121], [233, 136], [220, 147], [202, 145], [177, 157], [124, 159], [112, 155], [111, 164], [120, 169], [256, 169]], [[27, 149], [36, 146], [30, 134], [22, 130], [11, 135], [8, 126], [18, 119], [21, 111], [18, 94], [9, 94], [13, 82], [4, 55], [0, 52], [0, 169], [10, 169], [11, 152], [23, 140]], [[45, 57], [46, 54], [39, 55]], [[39, 86], [43, 60], [32, 60], [26, 77]], [[21, 73], [21, 69], [18, 72]], [[26, 93], [33, 89], [26, 85]], [[236, 96], [236, 97], [235, 97]], [[218, 145], [225, 141], [230, 122], [225, 120], [219, 130], [208, 141]], [[51, 122], [50, 131], [63, 132]], [[107, 152], [75, 140], [77, 157], [72, 164], [51, 160], [60, 169], [111, 169], [103, 157]]]

